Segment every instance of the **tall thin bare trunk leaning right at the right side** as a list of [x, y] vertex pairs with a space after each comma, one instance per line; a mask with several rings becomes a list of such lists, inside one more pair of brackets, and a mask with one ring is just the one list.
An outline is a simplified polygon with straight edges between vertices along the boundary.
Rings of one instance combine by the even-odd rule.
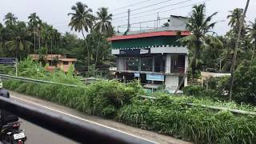
[[238, 46], [239, 46], [239, 41], [240, 41], [240, 37], [241, 37], [241, 31], [242, 31], [242, 26], [243, 26], [243, 22], [246, 18], [246, 12], [248, 10], [248, 6], [249, 6], [250, 0], [247, 0], [246, 2], [246, 8], [242, 14], [242, 18], [240, 18], [240, 24], [239, 24], [239, 29], [238, 29], [238, 38], [235, 42], [234, 45], [234, 55], [232, 58], [232, 65], [231, 65], [231, 78], [230, 78], [230, 101], [232, 101], [232, 92], [233, 92], [233, 86], [234, 86], [234, 69], [235, 69], [235, 64], [237, 61], [237, 54], [238, 54]]

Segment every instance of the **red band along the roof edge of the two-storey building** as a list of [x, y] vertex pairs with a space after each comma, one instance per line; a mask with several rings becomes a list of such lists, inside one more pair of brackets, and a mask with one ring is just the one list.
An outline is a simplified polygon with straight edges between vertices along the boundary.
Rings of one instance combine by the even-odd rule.
[[[178, 35], [178, 31], [160, 31], [160, 32], [152, 32], [152, 33], [144, 33], [144, 34], [132, 34], [132, 35], [120, 35], [114, 36], [112, 38], [107, 38], [108, 41], [117, 41], [122, 39], [134, 39], [134, 38], [148, 38], [148, 37], [157, 37], [157, 36], [174, 36]], [[189, 31], [182, 31], [182, 36], [190, 35]]]

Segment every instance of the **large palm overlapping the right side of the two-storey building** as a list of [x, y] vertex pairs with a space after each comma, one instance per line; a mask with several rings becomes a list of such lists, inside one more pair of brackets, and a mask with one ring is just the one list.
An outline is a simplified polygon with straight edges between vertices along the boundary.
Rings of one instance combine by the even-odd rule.
[[[179, 39], [180, 42], [186, 42], [189, 45], [190, 49], [192, 49], [190, 51], [193, 51], [193, 57], [190, 60], [189, 67], [194, 65], [194, 62], [198, 58], [200, 51], [202, 51], [202, 49], [204, 48], [206, 41], [214, 43], [217, 42], [220, 44], [222, 43], [218, 40], [218, 38], [214, 38], [209, 35], [210, 33], [213, 33], [212, 29], [217, 23], [211, 22], [212, 18], [216, 14], [217, 12], [211, 14], [209, 17], [206, 17], [205, 4], [193, 6], [190, 18], [188, 18], [188, 21], [186, 23], [186, 29], [189, 30], [191, 34], [189, 36]], [[178, 86], [177, 90], [175, 90], [175, 93], [178, 92], [185, 78], [186, 75], [184, 75], [184, 77], [182, 78], [182, 82]]]

